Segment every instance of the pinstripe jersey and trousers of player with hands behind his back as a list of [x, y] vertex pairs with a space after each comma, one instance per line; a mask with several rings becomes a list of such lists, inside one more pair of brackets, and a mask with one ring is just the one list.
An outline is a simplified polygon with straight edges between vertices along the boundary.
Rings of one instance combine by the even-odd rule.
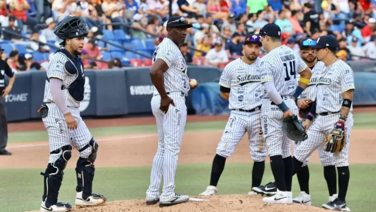
[[231, 156], [236, 145], [247, 132], [252, 160], [265, 161], [266, 148], [260, 122], [260, 96], [263, 88], [259, 61], [260, 59], [257, 58], [255, 63], [249, 65], [238, 58], [227, 64], [222, 72], [219, 85], [230, 88], [229, 108], [231, 109], [229, 121], [216, 152], [222, 157]]

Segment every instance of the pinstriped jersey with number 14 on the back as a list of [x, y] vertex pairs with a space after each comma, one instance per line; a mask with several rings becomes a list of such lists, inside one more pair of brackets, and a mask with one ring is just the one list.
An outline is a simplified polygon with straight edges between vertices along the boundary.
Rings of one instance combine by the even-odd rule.
[[[307, 65], [294, 50], [282, 45], [263, 56], [260, 67], [262, 83], [274, 81], [281, 96], [292, 96], [297, 87], [296, 74], [304, 71]], [[266, 91], [261, 98], [268, 98]]]

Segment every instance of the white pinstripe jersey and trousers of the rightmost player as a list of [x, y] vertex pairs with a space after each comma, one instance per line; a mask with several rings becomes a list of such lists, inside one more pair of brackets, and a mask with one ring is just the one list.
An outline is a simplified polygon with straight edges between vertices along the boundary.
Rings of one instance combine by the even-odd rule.
[[[316, 148], [322, 148], [324, 138], [330, 133], [334, 127], [334, 123], [338, 121], [339, 111], [342, 107], [342, 93], [350, 89], [355, 89], [354, 73], [352, 68], [342, 60], [336, 61], [334, 64], [320, 74], [318, 85], [316, 88], [316, 114], [318, 114], [315, 122], [308, 129], [308, 139], [302, 142], [294, 152], [294, 157], [299, 161], [305, 161]], [[320, 115], [320, 113], [329, 113]], [[336, 167], [349, 166], [348, 153], [350, 146], [350, 132], [353, 125], [352, 106], [350, 113], [345, 122], [347, 144], [337, 154], [333, 154], [334, 164]], [[331, 159], [333, 160], [333, 159]]]

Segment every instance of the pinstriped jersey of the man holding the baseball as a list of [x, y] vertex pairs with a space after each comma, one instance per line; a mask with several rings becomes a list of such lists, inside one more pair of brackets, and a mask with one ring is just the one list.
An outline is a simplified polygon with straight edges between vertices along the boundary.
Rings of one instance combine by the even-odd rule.
[[[182, 92], [188, 96], [187, 64], [178, 46], [170, 39], [164, 38], [154, 51], [153, 64], [158, 58], [168, 65], [168, 70], [163, 74], [166, 92]], [[154, 86], [154, 95], [157, 94], [159, 93]]]

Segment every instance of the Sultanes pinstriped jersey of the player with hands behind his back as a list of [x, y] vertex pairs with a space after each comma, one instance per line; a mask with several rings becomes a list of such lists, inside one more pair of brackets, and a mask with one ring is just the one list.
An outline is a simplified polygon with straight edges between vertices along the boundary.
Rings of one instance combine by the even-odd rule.
[[230, 109], [251, 110], [261, 105], [262, 93], [260, 59], [249, 65], [241, 58], [229, 63], [224, 68], [219, 85], [231, 88], [229, 97]]

